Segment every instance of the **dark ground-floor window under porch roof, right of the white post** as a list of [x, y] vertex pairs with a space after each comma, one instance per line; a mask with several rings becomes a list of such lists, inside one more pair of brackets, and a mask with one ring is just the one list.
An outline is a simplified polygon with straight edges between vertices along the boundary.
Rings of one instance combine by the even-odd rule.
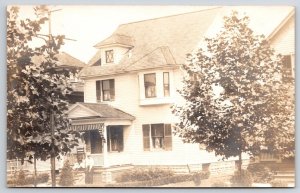
[[107, 151], [123, 151], [123, 128], [121, 126], [107, 127]]

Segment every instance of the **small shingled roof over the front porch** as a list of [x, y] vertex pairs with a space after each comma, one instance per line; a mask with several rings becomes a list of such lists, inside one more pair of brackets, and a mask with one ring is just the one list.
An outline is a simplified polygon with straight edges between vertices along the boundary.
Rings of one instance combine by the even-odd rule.
[[87, 108], [92, 111], [95, 115], [100, 118], [106, 119], [121, 119], [121, 120], [134, 120], [135, 117], [121, 111], [117, 108], [114, 108], [108, 104], [100, 104], [100, 103], [76, 103], [74, 104], [69, 112], [71, 112], [76, 106], [81, 106], [83, 108]]

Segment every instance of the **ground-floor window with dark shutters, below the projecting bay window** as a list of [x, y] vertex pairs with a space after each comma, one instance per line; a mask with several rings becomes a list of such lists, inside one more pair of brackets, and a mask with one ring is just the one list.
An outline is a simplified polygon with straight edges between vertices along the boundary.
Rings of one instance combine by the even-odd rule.
[[143, 125], [143, 142], [145, 151], [149, 151], [150, 146], [152, 149], [172, 150], [171, 124]]

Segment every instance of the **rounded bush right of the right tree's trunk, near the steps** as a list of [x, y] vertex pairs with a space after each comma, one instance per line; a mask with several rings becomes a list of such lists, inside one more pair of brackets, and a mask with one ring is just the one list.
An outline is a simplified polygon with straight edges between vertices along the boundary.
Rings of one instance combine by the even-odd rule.
[[261, 163], [250, 164], [247, 170], [252, 174], [253, 181], [258, 183], [268, 183], [275, 175], [269, 167]]

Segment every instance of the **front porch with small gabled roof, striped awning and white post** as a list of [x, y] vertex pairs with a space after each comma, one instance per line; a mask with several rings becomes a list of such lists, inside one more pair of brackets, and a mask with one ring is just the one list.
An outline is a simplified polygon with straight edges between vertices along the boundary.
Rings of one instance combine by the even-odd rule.
[[108, 168], [131, 164], [126, 139], [134, 117], [107, 104], [77, 103], [68, 113], [70, 129], [81, 134], [79, 146], [72, 152], [73, 161], [85, 166], [90, 155], [95, 167]]

